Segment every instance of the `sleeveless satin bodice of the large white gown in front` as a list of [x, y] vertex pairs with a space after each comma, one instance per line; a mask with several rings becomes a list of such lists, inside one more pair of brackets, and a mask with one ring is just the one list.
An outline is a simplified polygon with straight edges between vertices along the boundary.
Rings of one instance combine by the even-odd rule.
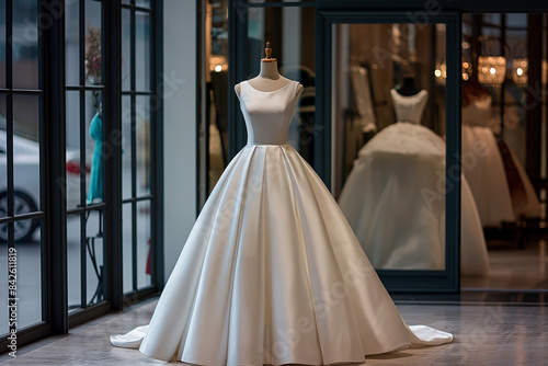
[[297, 81], [263, 92], [248, 81], [240, 83], [240, 108], [248, 128], [248, 145], [288, 142], [289, 124], [297, 105]]

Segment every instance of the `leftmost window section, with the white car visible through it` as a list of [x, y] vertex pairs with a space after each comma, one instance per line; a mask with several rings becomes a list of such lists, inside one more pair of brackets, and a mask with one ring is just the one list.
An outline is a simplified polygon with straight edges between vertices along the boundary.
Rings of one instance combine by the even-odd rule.
[[45, 320], [38, 3], [0, 0], [1, 334]]

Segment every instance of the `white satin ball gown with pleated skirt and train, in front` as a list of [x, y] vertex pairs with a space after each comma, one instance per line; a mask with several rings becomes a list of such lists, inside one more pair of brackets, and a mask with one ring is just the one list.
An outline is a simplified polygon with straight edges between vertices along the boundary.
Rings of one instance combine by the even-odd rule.
[[288, 144], [298, 82], [240, 87], [248, 145], [199, 214], [150, 324], [111, 343], [197, 365], [327, 365], [452, 342], [403, 322], [336, 202]]

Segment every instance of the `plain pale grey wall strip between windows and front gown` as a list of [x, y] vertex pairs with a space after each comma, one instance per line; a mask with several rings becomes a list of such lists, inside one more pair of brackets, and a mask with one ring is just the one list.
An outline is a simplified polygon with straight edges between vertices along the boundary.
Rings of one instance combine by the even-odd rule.
[[164, 0], [164, 273], [196, 218], [196, 2]]

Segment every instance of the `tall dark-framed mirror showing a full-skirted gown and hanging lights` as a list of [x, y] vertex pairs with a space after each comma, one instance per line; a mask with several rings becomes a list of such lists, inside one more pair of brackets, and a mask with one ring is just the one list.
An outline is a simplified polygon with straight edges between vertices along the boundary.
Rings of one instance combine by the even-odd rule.
[[[447, 155], [458, 142], [458, 76], [447, 75], [457, 16], [333, 12], [324, 22], [332, 194], [389, 289], [456, 290], [458, 217], [446, 207], [458, 211], [458, 163]], [[466, 183], [461, 199], [461, 270], [479, 273], [486, 242]]]

